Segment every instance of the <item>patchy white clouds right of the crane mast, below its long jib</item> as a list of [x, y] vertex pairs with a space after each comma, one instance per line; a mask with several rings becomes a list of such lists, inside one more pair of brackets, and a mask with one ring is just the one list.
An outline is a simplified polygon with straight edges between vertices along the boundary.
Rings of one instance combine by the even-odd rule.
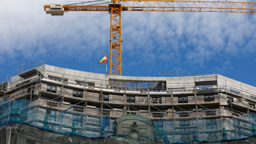
[[147, 61], [150, 55], [153, 61], [204, 66], [207, 61], [220, 60], [217, 56], [255, 55], [255, 14], [137, 13], [124, 14], [123, 21], [128, 22], [123, 29], [128, 30], [123, 37], [124, 51], [130, 57], [140, 56], [138, 61]]

